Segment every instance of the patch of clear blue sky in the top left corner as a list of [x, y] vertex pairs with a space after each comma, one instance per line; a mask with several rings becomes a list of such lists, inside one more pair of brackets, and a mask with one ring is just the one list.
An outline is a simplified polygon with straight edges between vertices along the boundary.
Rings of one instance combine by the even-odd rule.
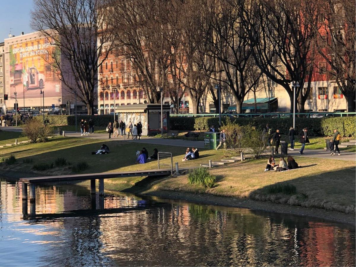
[[3, 0], [0, 10], [0, 42], [9, 38], [10, 28], [12, 35], [20, 35], [21, 32], [29, 33], [33, 30], [30, 27], [30, 11], [32, 0]]

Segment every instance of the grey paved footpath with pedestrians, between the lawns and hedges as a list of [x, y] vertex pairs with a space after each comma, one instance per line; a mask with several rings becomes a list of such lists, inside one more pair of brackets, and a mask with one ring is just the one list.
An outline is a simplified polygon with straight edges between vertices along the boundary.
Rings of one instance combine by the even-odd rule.
[[[0, 127], [0, 129], [5, 131], [22, 131], [20, 128], [16, 127]], [[81, 137], [81, 138], [93, 138], [98, 140], [105, 140], [109, 141], [109, 134], [108, 133], [94, 133], [89, 134], [88, 136], [80, 136], [80, 133], [76, 132], [67, 132], [66, 136], [71, 137]], [[135, 143], [147, 143], [147, 144], [154, 144], [154, 145], [167, 145], [167, 146], [180, 146], [180, 147], [197, 147], [197, 148], [204, 148], [204, 141], [192, 141], [192, 140], [182, 140], [182, 139], [173, 139], [173, 138], [156, 138], [156, 137], [142, 137], [141, 140], [132, 140], [127, 139], [127, 136], [124, 137], [113, 137], [111, 135], [110, 141], [124, 141], [124, 142], [135, 142]], [[305, 146], [305, 147], [308, 147]], [[279, 148], [280, 151], [280, 148]], [[341, 151], [340, 156], [330, 156], [329, 151], [325, 151], [323, 149], [304, 149], [304, 157], [310, 158], [327, 158], [327, 159], [338, 159], [338, 160], [345, 160], [345, 161], [356, 161], [356, 153], [355, 152], [343, 152]], [[294, 151], [288, 150], [288, 155], [292, 156], [299, 156], [299, 149], [295, 149]]]

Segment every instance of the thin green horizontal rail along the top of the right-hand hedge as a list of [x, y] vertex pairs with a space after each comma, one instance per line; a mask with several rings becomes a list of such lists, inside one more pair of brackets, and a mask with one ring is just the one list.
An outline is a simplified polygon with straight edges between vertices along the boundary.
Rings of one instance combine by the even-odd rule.
[[[356, 112], [307, 112], [307, 113], [295, 113], [295, 115], [307, 115], [308, 118], [312, 115], [323, 115], [326, 117], [326, 115], [340, 115], [345, 116], [345, 115], [356, 115]], [[241, 117], [252, 117], [252, 116], [263, 116], [264, 118], [267, 116], [275, 116], [278, 115], [278, 117], [285, 117], [285, 116], [293, 116], [293, 113], [229, 113], [229, 114], [221, 114], [221, 116], [241, 116]], [[218, 117], [219, 114], [169, 114], [170, 117]]]

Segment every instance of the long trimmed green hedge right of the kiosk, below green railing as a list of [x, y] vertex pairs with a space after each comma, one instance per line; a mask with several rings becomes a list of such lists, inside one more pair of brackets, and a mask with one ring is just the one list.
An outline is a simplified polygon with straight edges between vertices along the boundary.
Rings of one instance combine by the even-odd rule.
[[[287, 134], [293, 125], [293, 118], [236, 118], [232, 121], [239, 125], [251, 125], [262, 130], [269, 123], [273, 130], [279, 129], [281, 133]], [[221, 118], [225, 124], [226, 118]], [[171, 117], [171, 130], [208, 131], [211, 125], [219, 125], [219, 117]], [[355, 137], [355, 117], [323, 117], [323, 118], [295, 118], [295, 130], [298, 132], [308, 127], [310, 136], [331, 136], [333, 130], [338, 129], [341, 135]]]

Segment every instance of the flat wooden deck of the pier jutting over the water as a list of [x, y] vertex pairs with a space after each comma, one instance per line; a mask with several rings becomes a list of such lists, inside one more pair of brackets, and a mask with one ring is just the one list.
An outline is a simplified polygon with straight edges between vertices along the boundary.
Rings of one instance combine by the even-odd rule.
[[21, 182], [28, 184], [48, 183], [48, 182], [66, 182], [75, 180], [92, 180], [92, 179], [106, 179], [106, 178], [120, 178], [120, 177], [135, 177], [135, 176], [163, 176], [171, 174], [171, 169], [154, 169], [142, 171], [126, 171], [126, 172], [102, 172], [102, 173], [83, 173], [70, 174], [58, 176], [44, 176], [44, 177], [29, 177], [20, 178]]

